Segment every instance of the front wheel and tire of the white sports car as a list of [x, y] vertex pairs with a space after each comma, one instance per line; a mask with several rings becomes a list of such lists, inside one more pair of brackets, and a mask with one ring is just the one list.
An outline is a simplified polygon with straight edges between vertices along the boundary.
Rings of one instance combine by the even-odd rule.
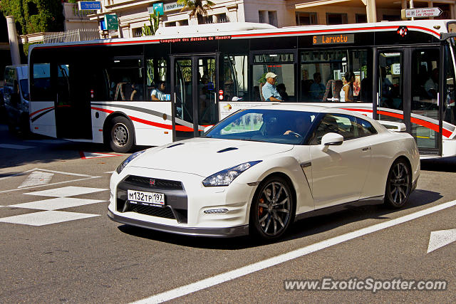
[[250, 207], [250, 234], [279, 239], [294, 220], [294, 196], [282, 177], [269, 177], [257, 189]]

